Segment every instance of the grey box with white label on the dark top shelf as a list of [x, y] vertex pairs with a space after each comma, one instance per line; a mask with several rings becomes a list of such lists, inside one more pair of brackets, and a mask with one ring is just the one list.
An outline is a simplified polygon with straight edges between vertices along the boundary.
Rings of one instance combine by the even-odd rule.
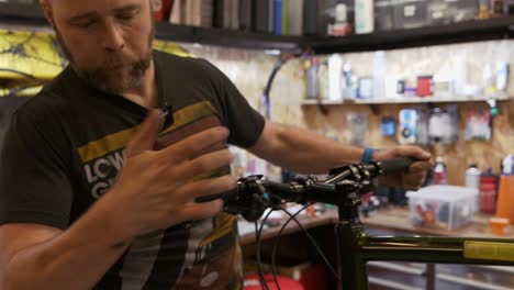
[[426, 26], [428, 4], [425, 0], [393, 1], [394, 29], [417, 29]]

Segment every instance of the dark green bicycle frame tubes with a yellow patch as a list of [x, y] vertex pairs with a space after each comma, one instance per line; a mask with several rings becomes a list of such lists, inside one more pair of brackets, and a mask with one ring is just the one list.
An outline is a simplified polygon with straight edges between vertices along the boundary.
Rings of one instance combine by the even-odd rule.
[[514, 266], [514, 239], [368, 236], [353, 203], [339, 207], [336, 225], [343, 290], [368, 290], [370, 260]]

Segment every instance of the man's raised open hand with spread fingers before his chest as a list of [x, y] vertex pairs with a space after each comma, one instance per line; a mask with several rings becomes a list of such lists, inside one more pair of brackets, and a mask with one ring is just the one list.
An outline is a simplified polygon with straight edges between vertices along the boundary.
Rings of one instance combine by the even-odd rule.
[[221, 200], [197, 203], [194, 199], [236, 186], [230, 176], [199, 179], [232, 161], [227, 149], [205, 153], [213, 144], [226, 141], [225, 127], [210, 129], [154, 150], [161, 126], [160, 112], [150, 111], [126, 147], [125, 164], [116, 182], [98, 201], [101, 204], [97, 210], [109, 214], [123, 238], [214, 216], [222, 210]]

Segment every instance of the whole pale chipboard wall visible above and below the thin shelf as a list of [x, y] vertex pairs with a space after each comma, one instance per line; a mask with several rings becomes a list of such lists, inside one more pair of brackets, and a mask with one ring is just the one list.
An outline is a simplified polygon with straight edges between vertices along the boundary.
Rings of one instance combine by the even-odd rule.
[[[214, 46], [185, 45], [191, 53], [204, 57], [222, 69], [238, 87], [250, 104], [258, 108], [261, 91], [277, 59], [276, 56], [266, 55], [260, 51], [242, 51], [219, 48]], [[469, 79], [479, 82], [484, 64], [507, 60], [511, 65], [509, 93], [514, 97], [514, 42], [496, 41], [471, 44], [446, 45], [435, 47], [421, 47], [403, 51], [387, 52], [388, 72], [403, 76], [429, 75], [440, 67], [451, 69], [458, 59], [465, 59], [469, 67]], [[354, 70], [360, 75], [371, 75], [372, 53], [343, 55], [350, 62]], [[412, 80], [411, 80], [412, 81]], [[346, 125], [346, 115], [350, 112], [369, 114], [370, 131], [369, 145], [384, 148], [396, 145], [396, 138], [382, 137], [379, 132], [382, 115], [398, 118], [403, 108], [414, 108], [412, 104], [384, 104], [377, 107], [373, 114], [368, 105], [336, 105], [327, 107], [324, 114], [315, 105], [302, 107], [305, 94], [302, 63], [290, 60], [277, 75], [271, 90], [272, 119], [306, 127], [320, 134], [335, 137], [340, 142], [348, 142], [349, 130]], [[437, 104], [434, 104], [437, 105]], [[514, 153], [514, 103], [501, 103], [501, 114], [494, 120], [492, 142], [465, 142], [462, 131], [466, 111], [473, 107], [487, 108], [485, 102], [460, 103], [460, 138], [451, 146], [435, 145], [429, 149], [435, 156], [442, 156], [449, 167], [449, 182], [462, 185], [466, 168], [477, 163], [482, 170], [492, 167], [499, 170], [500, 160], [507, 154]]]

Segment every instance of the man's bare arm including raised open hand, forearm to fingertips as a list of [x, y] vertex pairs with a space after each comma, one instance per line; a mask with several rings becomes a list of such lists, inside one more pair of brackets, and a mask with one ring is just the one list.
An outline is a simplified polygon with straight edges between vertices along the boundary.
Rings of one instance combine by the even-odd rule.
[[[135, 236], [212, 217], [222, 210], [221, 200], [194, 200], [236, 186], [230, 176], [198, 179], [230, 165], [227, 149], [206, 153], [213, 144], [225, 143], [228, 131], [210, 129], [155, 150], [161, 116], [158, 110], [149, 112], [126, 146], [116, 182], [70, 227], [63, 232], [10, 219], [3, 222], [0, 289], [91, 289]], [[5, 207], [2, 210], [9, 213]]]

